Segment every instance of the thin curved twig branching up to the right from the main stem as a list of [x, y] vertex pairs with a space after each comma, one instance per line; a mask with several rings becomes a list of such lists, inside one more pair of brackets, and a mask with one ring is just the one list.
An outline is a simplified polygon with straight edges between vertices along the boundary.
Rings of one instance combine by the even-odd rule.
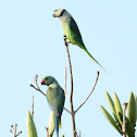
[[84, 102], [78, 107], [78, 109], [75, 111], [75, 113], [86, 103], [86, 101], [89, 99], [89, 97], [91, 96], [91, 94], [94, 92], [95, 90], [95, 87], [97, 85], [97, 82], [99, 79], [99, 72], [97, 72], [97, 78], [96, 78], [96, 82], [95, 82], [95, 85], [94, 85], [94, 88], [92, 90], [90, 91], [90, 94], [87, 96], [87, 98], [84, 100]]

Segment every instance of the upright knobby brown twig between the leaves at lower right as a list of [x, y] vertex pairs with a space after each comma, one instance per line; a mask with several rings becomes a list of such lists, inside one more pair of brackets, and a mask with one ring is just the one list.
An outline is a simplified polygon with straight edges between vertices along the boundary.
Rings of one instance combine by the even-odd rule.
[[123, 109], [123, 124], [122, 124], [122, 133], [123, 133], [123, 137], [126, 137], [126, 121], [125, 121], [125, 111], [127, 109], [127, 104], [126, 102], [123, 103], [124, 109]]

